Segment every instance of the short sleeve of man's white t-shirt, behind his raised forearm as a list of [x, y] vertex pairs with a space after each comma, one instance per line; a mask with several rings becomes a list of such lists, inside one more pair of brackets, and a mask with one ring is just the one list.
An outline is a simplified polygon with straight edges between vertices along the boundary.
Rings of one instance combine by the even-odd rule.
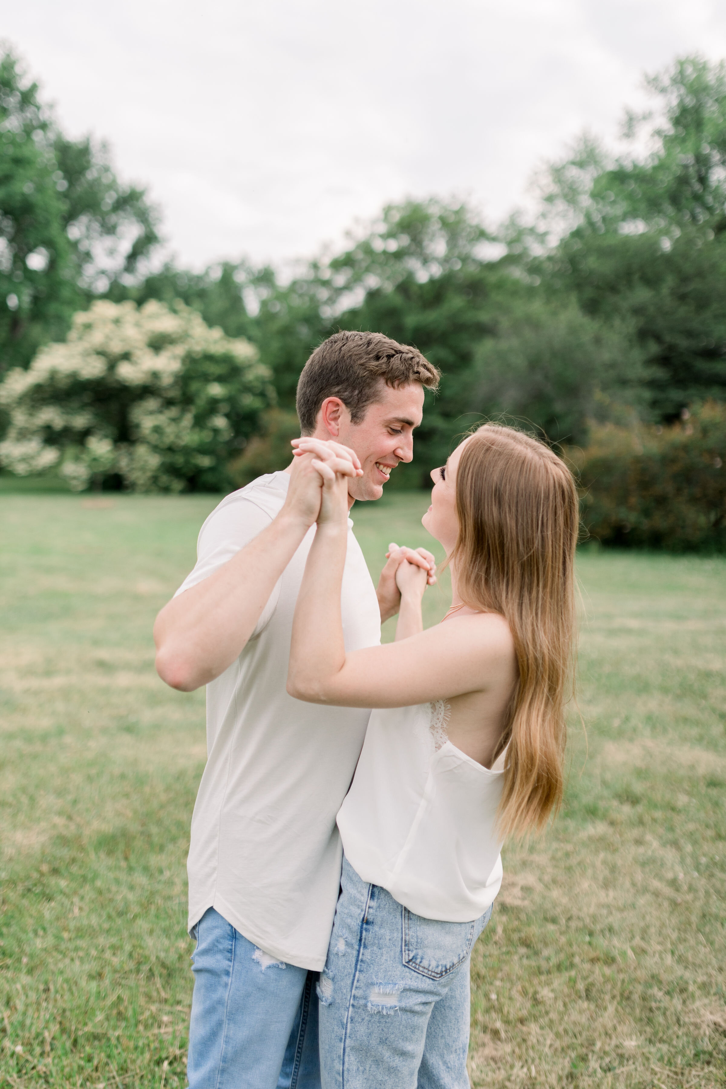
[[[213, 575], [245, 544], [267, 529], [271, 522], [272, 517], [246, 495], [235, 497], [230, 502], [221, 503], [201, 527], [197, 540], [197, 562], [174, 597]], [[259, 635], [272, 616], [280, 597], [281, 583], [282, 579], [279, 579], [275, 584], [250, 638]]]

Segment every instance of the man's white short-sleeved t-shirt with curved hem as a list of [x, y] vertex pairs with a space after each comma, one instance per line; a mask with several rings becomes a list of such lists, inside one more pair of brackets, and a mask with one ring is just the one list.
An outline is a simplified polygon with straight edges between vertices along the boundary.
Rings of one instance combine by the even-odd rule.
[[[223, 499], [201, 527], [197, 564], [176, 594], [269, 526], [288, 484], [286, 473], [272, 473]], [[315, 526], [239, 658], [207, 685], [207, 766], [187, 871], [189, 929], [213, 907], [266, 953], [321, 969], [341, 872], [335, 817], [370, 711], [304, 703], [285, 690], [295, 602], [313, 536]], [[350, 529], [342, 607], [346, 650], [380, 643], [376, 590]]]

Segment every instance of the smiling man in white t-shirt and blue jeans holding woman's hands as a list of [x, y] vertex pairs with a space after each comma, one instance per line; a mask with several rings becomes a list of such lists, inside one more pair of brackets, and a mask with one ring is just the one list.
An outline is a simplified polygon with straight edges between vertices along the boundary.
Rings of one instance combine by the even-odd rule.
[[[423, 388], [438, 379], [420, 352], [380, 333], [339, 332], [312, 353], [297, 387], [302, 433], [327, 443], [325, 456], [348, 474], [350, 504], [379, 499], [391, 470], [411, 461]], [[201, 527], [197, 565], [155, 625], [161, 678], [185, 692], [208, 686], [208, 760], [187, 864], [197, 940], [190, 1089], [320, 1085], [313, 988], [340, 882], [335, 816], [369, 712], [299, 702], [285, 690], [320, 503], [311, 460], [295, 458], [220, 503]], [[374, 590], [349, 533], [347, 649], [380, 641], [407, 560], [433, 578], [430, 553], [392, 547]]]

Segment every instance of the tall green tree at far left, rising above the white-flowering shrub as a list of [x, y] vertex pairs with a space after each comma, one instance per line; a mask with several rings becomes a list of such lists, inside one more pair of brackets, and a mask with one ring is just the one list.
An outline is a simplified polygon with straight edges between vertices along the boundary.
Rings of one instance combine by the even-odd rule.
[[0, 56], [0, 375], [62, 338], [73, 313], [138, 273], [158, 242], [145, 193], [108, 148], [69, 139], [17, 57]]

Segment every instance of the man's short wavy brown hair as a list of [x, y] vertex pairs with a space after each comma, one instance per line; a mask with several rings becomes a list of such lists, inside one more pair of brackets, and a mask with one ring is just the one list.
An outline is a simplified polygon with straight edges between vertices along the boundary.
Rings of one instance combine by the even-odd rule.
[[383, 333], [342, 331], [320, 344], [297, 382], [297, 415], [303, 435], [312, 435], [325, 397], [340, 397], [359, 424], [379, 400], [381, 379], [393, 389], [419, 382], [439, 386], [439, 371], [418, 348], [398, 344]]

